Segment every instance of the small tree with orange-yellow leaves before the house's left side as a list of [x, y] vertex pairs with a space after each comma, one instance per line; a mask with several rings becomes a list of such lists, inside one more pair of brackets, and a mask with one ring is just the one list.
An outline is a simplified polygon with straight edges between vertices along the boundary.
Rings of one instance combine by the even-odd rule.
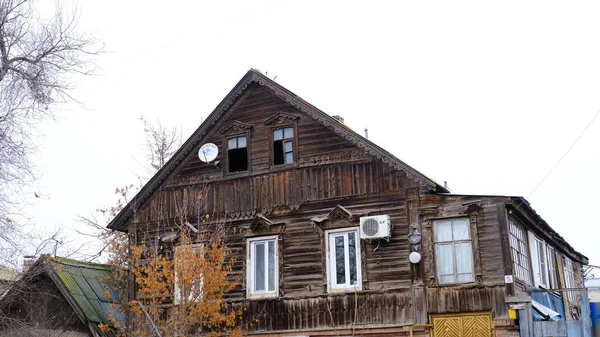
[[[167, 129], [143, 121], [148, 144], [152, 144], [152, 167], [158, 170], [154, 159], [166, 162], [175, 141]], [[133, 185], [116, 189], [117, 205], [99, 212], [109, 222], [135, 192]], [[176, 219], [140, 225], [135, 233], [103, 229], [115, 282], [126, 290], [122, 303], [129, 303], [122, 306], [128, 311], [127, 324], [113, 322], [103, 329], [119, 337], [243, 335], [243, 307], [226, 301], [239, 280], [230, 276], [235, 260], [226, 246], [225, 224], [202, 214], [203, 202], [196, 200], [193, 215], [181, 207]]]

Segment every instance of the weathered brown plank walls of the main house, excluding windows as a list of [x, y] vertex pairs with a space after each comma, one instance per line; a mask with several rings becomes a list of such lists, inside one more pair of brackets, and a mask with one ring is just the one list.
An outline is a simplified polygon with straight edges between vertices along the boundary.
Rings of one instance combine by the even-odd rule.
[[[328, 128], [317, 121], [320, 117], [309, 117], [269, 90], [249, 84], [197, 140], [218, 146], [221, 167], [201, 162], [196, 152], [200, 145], [189, 143], [188, 150], [196, 150], [183, 152], [178, 166], [165, 171], [160, 183], [149, 183], [152, 194], [140, 205], [134, 203], [128, 223], [134, 244], [161, 245], [169, 251], [172, 243], [158, 238], [173, 231], [174, 223], [200, 224], [200, 232], [223, 226], [235, 259], [229, 277], [239, 281], [227, 299], [246, 306], [244, 320], [254, 334], [332, 334], [353, 327], [401, 331], [427, 323], [429, 314], [465, 312], [491, 312], [495, 323], [514, 328], [504, 301], [507, 291], [519, 290], [504, 283], [504, 276], [512, 273], [506, 228], [511, 198], [436, 194], [446, 190], [423, 184], [412, 168], [377, 157], [377, 149], [365, 150], [365, 140], [346, 140], [347, 134], [332, 131], [330, 124]], [[287, 118], [283, 123], [289, 121], [295, 130], [294, 163], [274, 166], [274, 127], [265, 122], [280, 113]], [[245, 172], [227, 170], [227, 137], [236, 136], [227, 130], [247, 136]], [[348, 216], [329, 218], [338, 205]], [[389, 241], [360, 240], [362, 290], [328, 293], [324, 231], [357, 227], [362, 216], [384, 214], [393, 225]], [[438, 219], [454, 217], [469, 219], [474, 280], [440, 285], [433, 227]], [[535, 214], [523, 217], [538, 224]], [[268, 219], [268, 226], [252, 227], [256, 219]], [[412, 246], [407, 240], [411, 225], [422, 234], [422, 241]], [[555, 233], [546, 227], [539, 225], [536, 233], [550, 240]], [[248, 299], [247, 240], [262, 236], [278, 238], [279, 293], [276, 298]], [[422, 256], [417, 265], [408, 260], [413, 249]], [[558, 252], [569, 253], [579, 267], [573, 251], [557, 244]]]

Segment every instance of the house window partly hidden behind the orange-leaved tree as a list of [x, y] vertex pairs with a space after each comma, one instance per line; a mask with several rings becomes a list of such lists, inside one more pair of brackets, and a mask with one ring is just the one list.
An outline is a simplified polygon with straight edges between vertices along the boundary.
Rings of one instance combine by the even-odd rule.
[[202, 258], [201, 244], [175, 247], [173, 303], [198, 302], [202, 299]]

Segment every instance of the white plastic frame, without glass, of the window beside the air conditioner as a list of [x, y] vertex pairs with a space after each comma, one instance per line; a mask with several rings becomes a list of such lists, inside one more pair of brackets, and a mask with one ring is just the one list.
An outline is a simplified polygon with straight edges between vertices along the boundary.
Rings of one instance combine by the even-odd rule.
[[[349, 279], [350, 277], [350, 256], [349, 256], [349, 249], [348, 249], [348, 233], [354, 233], [354, 237], [355, 237], [355, 244], [356, 244], [356, 284], [349, 284]], [[345, 260], [345, 271], [346, 271], [346, 284], [340, 285], [337, 284], [336, 282], [336, 265], [335, 265], [335, 258], [332, 259], [332, 254], [335, 254], [335, 252], [332, 250], [332, 247], [335, 247], [335, 242], [333, 242], [333, 240], [335, 240], [336, 236], [339, 236], [340, 234], [346, 234], [344, 236], [344, 260]], [[346, 228], [338, 228], [338, 229], [331, 229], [328, 231], [325, 231], [325, 237], [327, 238], [327, 240], [325, 240], [325, 251], [327, 254], [326, 255], [326, 273], [327, 273], [327, 292], [329, 293], [337, 293], [337, 292], [352, 292], [352, 291], [359, 291], [362, 290], [362, 259], [361, 259], [361, 250], [360, 250], [360, 232], [359, 232], [359, 227], [346, 227]], [[333, 244], [332, 244], [333, 242]]]

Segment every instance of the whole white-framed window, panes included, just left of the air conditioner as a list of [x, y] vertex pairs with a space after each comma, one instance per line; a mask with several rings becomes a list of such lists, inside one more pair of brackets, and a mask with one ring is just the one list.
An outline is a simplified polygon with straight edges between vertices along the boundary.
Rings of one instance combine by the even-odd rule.
[[327, 280], [330, 292], [361, 290], [358, 228], [327, 232]]

